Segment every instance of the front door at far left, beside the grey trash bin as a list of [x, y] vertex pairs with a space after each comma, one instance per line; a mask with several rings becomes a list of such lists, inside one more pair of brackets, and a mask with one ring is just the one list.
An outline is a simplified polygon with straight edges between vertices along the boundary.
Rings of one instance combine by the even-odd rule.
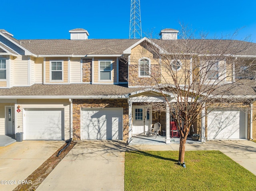
[[13, 106], [6, 106], [6, 135], [8, 134], [15, 134], [14, 130], [14, 107]]

